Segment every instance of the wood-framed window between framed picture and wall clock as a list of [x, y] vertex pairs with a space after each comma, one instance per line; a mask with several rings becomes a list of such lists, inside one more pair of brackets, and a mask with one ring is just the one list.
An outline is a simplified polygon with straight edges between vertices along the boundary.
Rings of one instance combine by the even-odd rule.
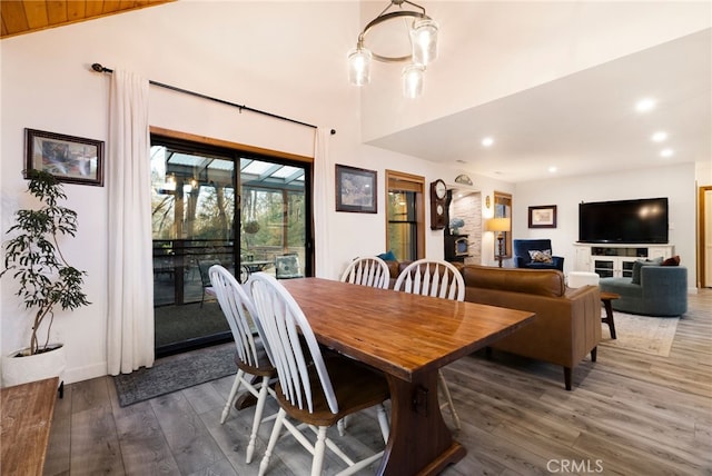
[[386, 170], [386, 249], [399, 261], [425, 257], [425, 178]]

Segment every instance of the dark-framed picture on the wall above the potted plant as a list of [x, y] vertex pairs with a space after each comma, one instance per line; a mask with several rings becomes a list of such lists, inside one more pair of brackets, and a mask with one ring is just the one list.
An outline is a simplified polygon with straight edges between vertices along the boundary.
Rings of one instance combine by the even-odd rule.
[[24, 129], [24, 178], [41, 170], [68, 184], [103, 186], [103, 141]]

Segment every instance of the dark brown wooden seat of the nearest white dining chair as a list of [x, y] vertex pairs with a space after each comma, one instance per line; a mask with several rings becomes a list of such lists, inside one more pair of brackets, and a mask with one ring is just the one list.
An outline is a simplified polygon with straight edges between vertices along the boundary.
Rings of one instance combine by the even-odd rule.
[[333, 414], [329, 409], [326, 396], [319, 385], [316, 367], [309, 365], [307, 368], [313, 389], [314, 413], [310, 414], [306, 406], [304, 409], [299, 409], [298, 406], [291, 405], [283, 394], [281, 383], [277, 383], [275, 389], [277, 399], [289, 417], [309, 425], [332, 426], [347, 415], [370, 408], [389, 398], [388, 381], [382, 373], [340, 355], [330, 355], [325, 358], [325, 364], [334, 386], [339, 411]]

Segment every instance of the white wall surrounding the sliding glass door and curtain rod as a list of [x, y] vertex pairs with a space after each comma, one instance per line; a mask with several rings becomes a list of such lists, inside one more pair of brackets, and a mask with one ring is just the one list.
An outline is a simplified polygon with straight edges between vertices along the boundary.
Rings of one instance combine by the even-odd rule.
[[[296, 21], [298, 20], [298, 21]], [[385, 170], [444, 177], [414, 157], [360, 145], [359, 89], [346, 80], [345, 51], [358, 33], [356, 2], [176, 2], [2, 40], [0, 224], [27, 206], [23, 129], [107, 140], [109, 77], [92, 62], [145, 78], [336, 129], [332, 161], [378, 172], [378, 214], [329, 211], [327, 244], [340, 275], [359, 255], [385, 251]], [[190, 34], [182, 33], [189, 29]], [[325, 40], [328, 39], [328, 40]], [[314, 130], [266, 119], [165, 89], [150, 88], [151, 126], [273, 150], [313, 155]], [[111, 158], [107, 158], [111, 160]], [[455, 172], [452, 173], [455, 177]], [[67, 185], [79, 234], [67, 258], [88, 272], [91, 306], [57, 313], [53, 340], [67, 348], [66, 381], [106, 374], [107, 189]], [[333, 191], [327, 194], [333, 197]], [[334, 204], [329, 204], [334, 210]], [[429, 217], [427, 217], [429, 220]], [[4, 237], [3, 237], [4, 239]], [[427, 256], [443, 257], [442, 234], [426, 236]], [[0, 280], [0, 353], [29, 344], [29, 314]]]

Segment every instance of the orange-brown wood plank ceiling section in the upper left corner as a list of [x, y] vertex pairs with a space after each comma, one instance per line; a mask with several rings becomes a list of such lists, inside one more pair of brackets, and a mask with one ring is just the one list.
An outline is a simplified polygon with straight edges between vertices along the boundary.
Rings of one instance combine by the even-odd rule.
[[0, 38], [60, 27], [107, 14], [123, 13], [174, 0], [1, 0]]

